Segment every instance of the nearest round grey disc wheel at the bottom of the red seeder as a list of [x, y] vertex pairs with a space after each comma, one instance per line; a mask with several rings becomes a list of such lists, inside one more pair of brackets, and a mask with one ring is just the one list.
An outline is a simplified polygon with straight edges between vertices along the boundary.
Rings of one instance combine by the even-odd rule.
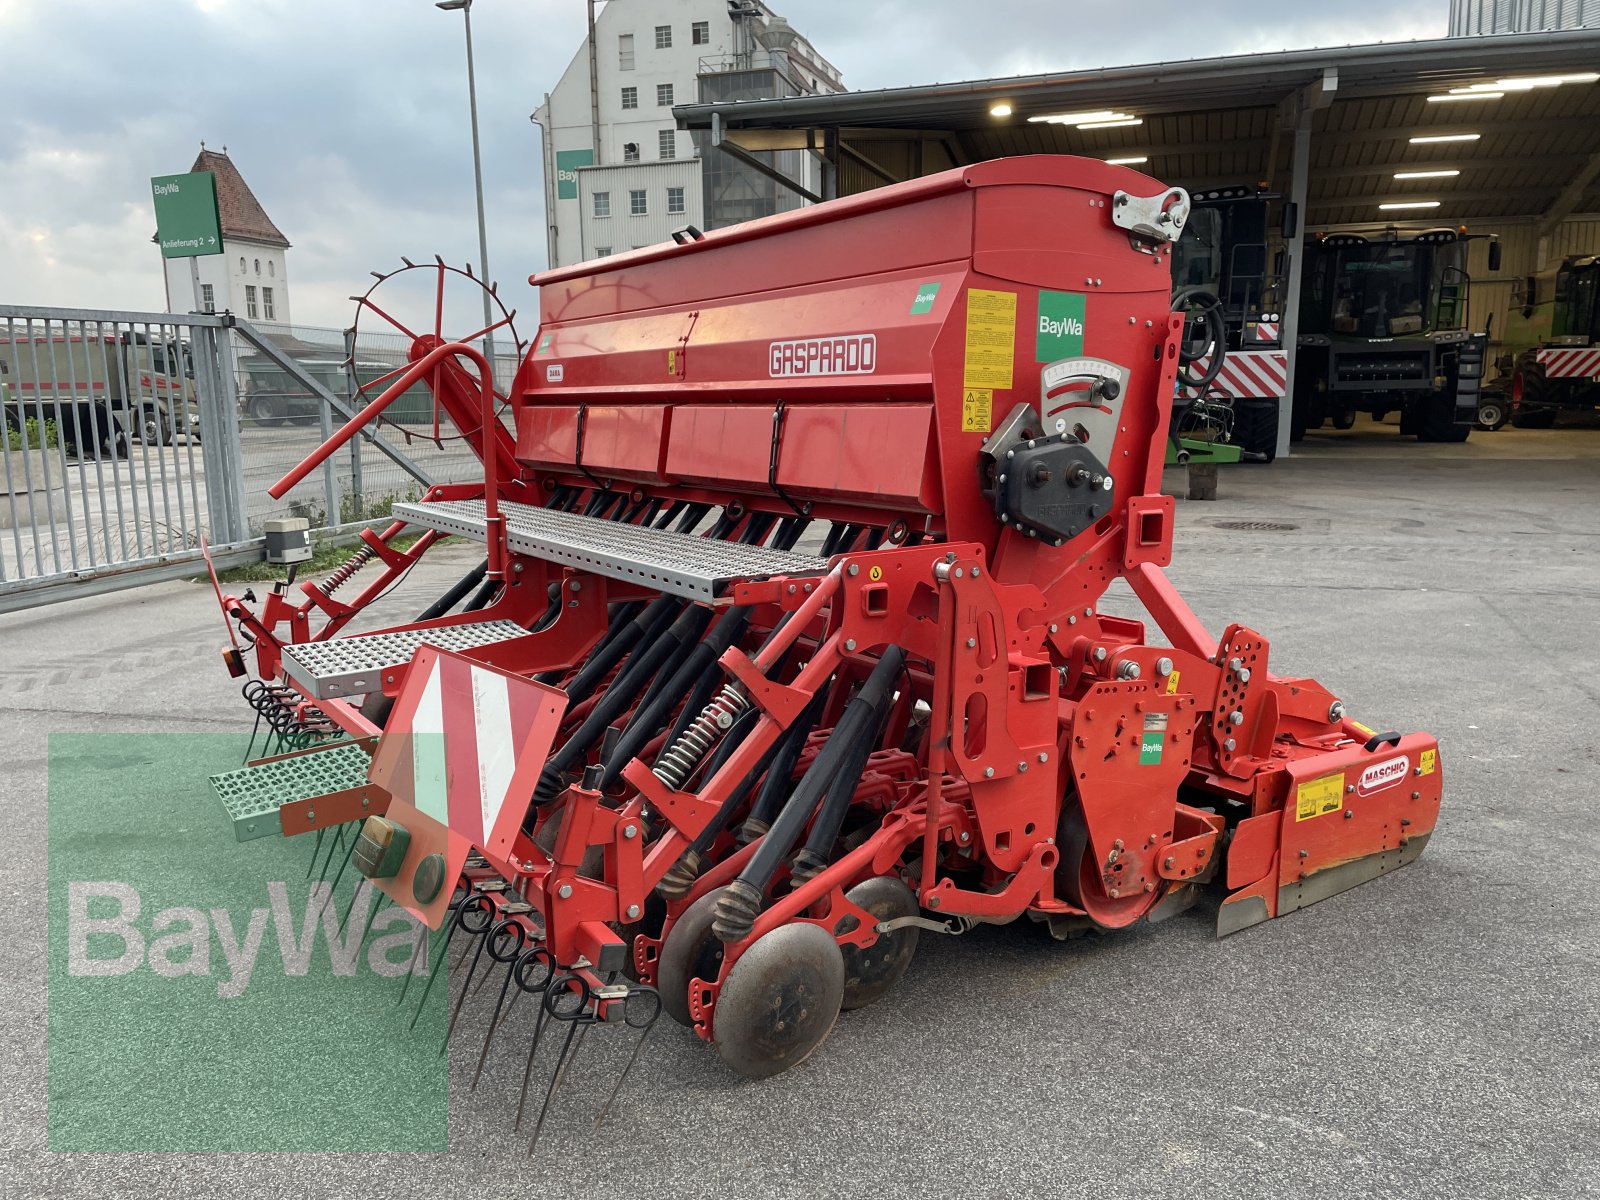
[[766, 1078], [800, 1066], [834, 1032], [845, 998], [845, 958], [819, 925], [763, 934], [728, 971], [712, 1040], [733, 1070]]

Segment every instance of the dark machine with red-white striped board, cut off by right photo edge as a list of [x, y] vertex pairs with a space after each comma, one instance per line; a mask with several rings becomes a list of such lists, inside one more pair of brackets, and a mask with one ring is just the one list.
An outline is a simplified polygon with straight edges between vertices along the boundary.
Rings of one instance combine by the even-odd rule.
[[1600, 256], [1518, 280], [1501, 347], [1478, 406], [1488, 429], [1549, 429], [1562, 410], [1600, 406]]

